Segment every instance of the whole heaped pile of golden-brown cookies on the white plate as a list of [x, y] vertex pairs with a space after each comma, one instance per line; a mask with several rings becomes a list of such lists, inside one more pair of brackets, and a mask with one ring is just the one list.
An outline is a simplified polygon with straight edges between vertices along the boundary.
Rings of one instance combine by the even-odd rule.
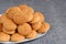
[[26, 4], [11, 7], [0, 16], [0, 42], [33, 38], [50, 28], [42, 12], [34, 11]]

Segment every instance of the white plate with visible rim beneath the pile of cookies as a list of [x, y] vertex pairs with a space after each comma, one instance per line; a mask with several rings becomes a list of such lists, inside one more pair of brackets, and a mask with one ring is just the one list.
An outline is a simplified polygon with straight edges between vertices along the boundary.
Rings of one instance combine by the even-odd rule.
[[[1, 16], [1, 14], [0, 14], [0, 16]], [[28, 41], [32, 41], [32, 40], [38, 38], [38, 37], [45, 35], [45, 34], [46, 34], [46, 33], [43, 33], [43, 34], [38, 33], [36, 37], [33, 37], [33, 38], [25, 38], [25, 40], [20, 41], [20, 42], [0, 42], [0, 43], [3, 43], [3, 44], [15, 44], [15, 43], [22, 43], [22, 42], [28, 42]]]

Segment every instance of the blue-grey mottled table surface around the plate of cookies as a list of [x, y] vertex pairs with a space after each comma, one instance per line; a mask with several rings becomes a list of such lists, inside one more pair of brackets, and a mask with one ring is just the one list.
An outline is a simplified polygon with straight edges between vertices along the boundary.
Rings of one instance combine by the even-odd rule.
[[45, 13], [45, 21], [52, 25], [41, 38], [21, 44], [66, 44], [66, 0], [0, 0], [0, 13], [21, 3]]

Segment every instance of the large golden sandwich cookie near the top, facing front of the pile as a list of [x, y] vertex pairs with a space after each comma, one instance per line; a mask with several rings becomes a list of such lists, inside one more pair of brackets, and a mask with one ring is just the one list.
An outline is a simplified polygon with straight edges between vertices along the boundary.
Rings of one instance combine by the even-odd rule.
[[14, 15], [13, 15], [13, 21], [16, 23], [16, 24], [23, 24], [25, 22], [30, 22], [32, 19], [33, 19], [33, 14], [31, 13], [24, 13], [22, 11], [20, 12], [16, 12]]

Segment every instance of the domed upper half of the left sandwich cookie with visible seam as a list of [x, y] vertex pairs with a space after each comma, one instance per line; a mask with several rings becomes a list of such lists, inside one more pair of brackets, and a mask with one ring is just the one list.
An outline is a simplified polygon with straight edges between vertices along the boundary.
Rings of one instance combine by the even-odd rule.
[[16, 29], [16, 24], [14, 24], [10, 19], [7, 19], [4, 22], [3, 22], [3, 28], [6, 30], [15, 30]]

